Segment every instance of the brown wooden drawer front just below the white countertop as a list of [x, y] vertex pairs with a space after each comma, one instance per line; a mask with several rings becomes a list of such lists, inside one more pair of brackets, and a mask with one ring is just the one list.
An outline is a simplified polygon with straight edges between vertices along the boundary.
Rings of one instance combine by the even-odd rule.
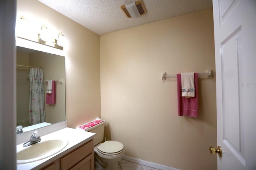
[[62, 170], [68, 170], [93, 152], [93, 141], [85, 144], [60, 160]]

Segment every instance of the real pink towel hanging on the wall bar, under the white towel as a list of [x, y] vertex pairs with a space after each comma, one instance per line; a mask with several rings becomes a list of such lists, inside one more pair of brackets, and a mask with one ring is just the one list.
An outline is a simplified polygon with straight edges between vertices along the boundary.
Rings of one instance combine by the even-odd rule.
[[178, 116], [198, 117], [198, 73], [194, 73], [195, 97], [181, 97], [181, 74], [177, 74]]

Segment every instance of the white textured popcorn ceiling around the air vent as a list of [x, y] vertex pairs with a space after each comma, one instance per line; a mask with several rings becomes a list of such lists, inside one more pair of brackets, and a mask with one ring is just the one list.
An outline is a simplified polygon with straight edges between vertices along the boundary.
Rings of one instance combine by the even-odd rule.
[[147, 13], [126, 18], [120, 6], [136, 0], [38, 1], [98, 35], [212, 8], [212, 0], [143, 0]]

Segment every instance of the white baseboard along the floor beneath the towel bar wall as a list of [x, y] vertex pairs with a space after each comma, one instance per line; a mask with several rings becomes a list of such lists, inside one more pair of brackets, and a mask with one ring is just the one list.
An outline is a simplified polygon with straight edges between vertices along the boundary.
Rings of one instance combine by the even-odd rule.
[[156, 169], [159, 169], [159, 170], [179, 170], [179, 169], [172, 168], [172, 167], [169, 167], [169, 166], [164, 166], [164, 165], [161, 165], [161, 164], [156, 164], [156, 163], [153, 163], [153, 162], [148, 162], [146, 160], [132, 158], [132, 157], [126, 156], [126, 155], [122, 156], [122, 159], [123, 160], [127, 160], [129, 162], [134, 162], [136, 164], [141, 164], [141, 165], [149, 166], [149, 167], [152, 167], [152, 168], [156, 168]]

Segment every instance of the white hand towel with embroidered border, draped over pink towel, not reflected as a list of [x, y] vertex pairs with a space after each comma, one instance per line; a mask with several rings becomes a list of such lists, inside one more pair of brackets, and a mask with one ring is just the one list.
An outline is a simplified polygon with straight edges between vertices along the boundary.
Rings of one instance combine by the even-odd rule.
[[194, 72], [181, 73], [181, 96], [185, 98], [195, 97]]

